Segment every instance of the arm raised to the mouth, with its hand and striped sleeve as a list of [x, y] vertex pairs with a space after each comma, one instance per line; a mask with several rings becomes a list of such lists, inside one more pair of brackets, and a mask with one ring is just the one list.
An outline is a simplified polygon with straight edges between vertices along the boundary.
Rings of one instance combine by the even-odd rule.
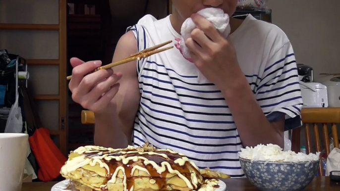
[[[299, 109], [302, 97], [296, 62], [292, 56], [278, 62], [292, 54], [290, 44], [287, 43], [280, 51], [268, 52], [271, 59], [264, 63], [266, 68], [263, 68], [264, 76], [258, 88], [262, 90], [254, 95], [238, 65], [230, 38], [225, 39], [202, 16], [193, 14], [191, 18], [198, 28], [192, 31], [185, 44], [197, 68], [224, 95], [243, 146], [273, 143], [283, 148], [283, 135], [287, 130], [285, 117], [301, 121]], [[274, 117], [270, 122], [266, 112], [283, 115]]]

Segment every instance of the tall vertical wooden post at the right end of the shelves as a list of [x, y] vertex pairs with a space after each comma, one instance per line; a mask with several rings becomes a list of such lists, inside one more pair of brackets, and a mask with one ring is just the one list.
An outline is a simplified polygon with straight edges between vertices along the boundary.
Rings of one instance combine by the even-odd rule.
[[59, 148], [67, 155], [67, 0], [59, 0]]

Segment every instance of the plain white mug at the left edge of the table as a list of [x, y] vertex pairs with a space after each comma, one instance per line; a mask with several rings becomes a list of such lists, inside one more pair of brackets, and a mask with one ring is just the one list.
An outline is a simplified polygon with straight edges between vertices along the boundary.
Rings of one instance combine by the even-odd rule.
[[21, 191], [28, 135], [0, 133], [0, 191]]

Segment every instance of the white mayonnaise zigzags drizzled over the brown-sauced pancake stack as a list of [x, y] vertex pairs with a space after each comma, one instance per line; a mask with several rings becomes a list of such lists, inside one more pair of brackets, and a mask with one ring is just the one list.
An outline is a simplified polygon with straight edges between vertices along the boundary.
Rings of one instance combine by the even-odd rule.
[[[125, 148], [125, 150], [128, 151], [123, 151], [124, 149], [113, 149], [113, 148], [105, 148], [105, 147], [101, 147], [101, 146], [82, 146], [77, 148], [76, 150], [74, 150], [75, 153], [79, 154], [80, 156], [74, 157], [72, 160], [68, 160], [66, 162], [66, 164], [61, 168], [61, 173], [65, 176], [67, 176], [68, 173], [77, 170], [80, 167], [83, 167], [85, 165], [90, 165], [92, 167], [96, 166], [97, 163], [99, 164], [99, 166], [101, 168], [105, 168], [108, 172], [108, 174], [110, 174], [110, 167], [108, 166], [107, 163], [105, 163], [103, 161], [103, 159], [110, 161], [110, 160], [116, 160], [116, 161], [121, 161], [123, 164], [128, 164], [129, 161], [134, 161], [137, 162], [138, 160], [143, 160], [145, 165], [151, 164], [156, 171], [159, 174], [162, 174], [163, 172], [165, 172], [167, 169], [169, 171], [169, 173], [171, 174], [176, 174], [179, 178], [181, 178], [187, 185], [187, 187], [191, 190], [193, 189], [197, 189], [197, 185], [198, 185], [198, 179], [197, 179], [197, 175], [195, 172], [190, 172], [191, 173], [191, 177], [190, 180], [191, 182], [185, 177], [183, 176], [179, 171], [172, 169], [171, 165], [169, 162], [164, 161], [161, 163], [161, 166], [158, 166], [156, 164], [156, 162], [151, 161], [143, 156], [129, 156], [127, 158], [125, 158], [124, 154], [131, 154], [131, 153], [138, 153], [140, 155], [143, 154], [149, 154], [149, 155], [160, 155], [164, 158], [169, 158], [165, 153], [157, 153], [157, 152], [153, 152], [153, 151], [148, 151], [148, 152], [138, 152], [137, 150], [135, 150], [136, 148], [133, 146], [128, 146], [127, 148]], [[180, 156], [182, 156], [182, 158], [178, 158], [174, 161], [174, 163], [178, 164], [179, 166], [183, 166], [185, 165], [186, 162], [189, 162], [197, 171], [199, 171], [198, 167], [195, 165], [195, 163], [193, 163], [192, 161], [190, 161], [187, 157], [185, 157], [184, 154], [180, 154], [177, 153], [171, 149], [158, 149], [157, 151], [165, 151], [165, 152], [170, 152], [171, 154], [178, 154]], [[91, 158], [86, 158], [86, 155], [90, 155], [92, 153], [96, 153], [96, 156], [93, 156]], [[120, 156], [113, 156], [112, 154], [117, 154], [120, 153], [122, 155]], [[81, 154], [85, 154], [85, 155], [81, 155]], [[143, 167], [140, 167], [138, 165], [135, 165], [132, 168], [131, 171], [131, 175], [133, 175], [134, 171], [138, 169], [141, 171], [144, 171], [146, 173], [149, 173], [149, 171]], [[119, 172], [119, 170], [123, 171], [124, 173], [124, 180], [123, 180], [123, 184], [124, 184], [124, 190], [126, 191], [126, 176], [125, 176], [125, 169], [122, 166], [119, 166], [115, 169], [111, 180], [108, 181], [108, 183], [112, 183], [114, 184], [116, 182], [116, 178], [117, 178], [117, 174]], [[102, 185], [101, 188], [106, 187], [106, 185]], [[131, 188], [133, 189], [133, 188]]]

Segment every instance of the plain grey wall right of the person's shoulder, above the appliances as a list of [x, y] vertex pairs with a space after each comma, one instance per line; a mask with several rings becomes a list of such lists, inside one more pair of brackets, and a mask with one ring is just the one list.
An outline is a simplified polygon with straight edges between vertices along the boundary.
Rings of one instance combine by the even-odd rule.
[[340, 0], [270, 0], [273, 23], [290, 39], [297, 63], [340, 73]]

